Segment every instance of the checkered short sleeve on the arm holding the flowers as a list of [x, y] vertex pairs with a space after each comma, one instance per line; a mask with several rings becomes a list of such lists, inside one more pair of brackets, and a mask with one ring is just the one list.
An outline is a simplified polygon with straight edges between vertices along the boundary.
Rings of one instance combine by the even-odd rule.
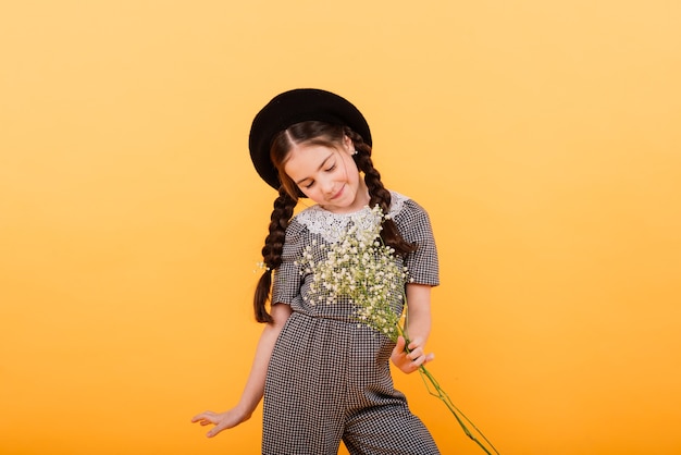
[[416, 201], [407, 199], [394, 220], [403, 237], [417, 244], [417, 250], [405, 258], [409, 280], [419, 284], [438, 285], [439, 261], [428, 212]]

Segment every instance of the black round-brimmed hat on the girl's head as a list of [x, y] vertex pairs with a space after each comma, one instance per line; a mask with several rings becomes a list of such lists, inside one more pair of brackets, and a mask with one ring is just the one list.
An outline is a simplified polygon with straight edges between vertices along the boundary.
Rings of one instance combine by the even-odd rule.
[[248, 138], [250, 159], [258, 174], [274, 189], [281, 182], [270, 160], [274, 136], [292, 125], [320, 121], [349, 126], [371, 146], [371, 131], [362, 113], [347, 99], [317, 88], [296, 88], [272, 98], [253, 119]]

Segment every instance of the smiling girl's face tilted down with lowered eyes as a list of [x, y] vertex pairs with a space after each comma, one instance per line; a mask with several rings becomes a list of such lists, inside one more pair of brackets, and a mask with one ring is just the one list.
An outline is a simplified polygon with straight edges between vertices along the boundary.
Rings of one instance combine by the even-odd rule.
[[340, 147], [318, 144], [295, 145], [284, 164], [284, 172], [314, 202], [334, 213], [349, 213], [369, 204], [369, 192], [352, 152], [352, 142], [345, 137]]

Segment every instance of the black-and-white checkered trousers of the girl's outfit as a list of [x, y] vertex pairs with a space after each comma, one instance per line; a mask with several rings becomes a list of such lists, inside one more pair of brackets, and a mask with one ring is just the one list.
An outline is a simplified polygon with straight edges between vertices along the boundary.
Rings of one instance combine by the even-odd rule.
[[437, 455], [393, 386], [393, 344], [366, 327], [294, 312], [270, 360], [263, 455]]

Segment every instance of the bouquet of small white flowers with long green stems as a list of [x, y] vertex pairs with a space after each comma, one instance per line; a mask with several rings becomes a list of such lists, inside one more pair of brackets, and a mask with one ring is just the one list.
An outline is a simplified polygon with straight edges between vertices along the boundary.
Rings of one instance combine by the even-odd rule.
[[[408, 305], [405, 285], [409, 282], [409, 271], [396, 260], [395, 250], [382, 242], [381, 222], [385, 217], [387, 216], [383, 214], [381, 208], [375, 206], [367, 211], [366, 217], [354, 219], [354, 223], [340, 233], [338, 242], [331, 245], [309, 245], [298, 265], [301, 273], [312, 273], [310, 291], [319, 290], [320, 294], [326, 296], [327, 304], [338, 297], [351, 299], [358, 323], [369, 325], [393, 342], [397, 342], [397, 337], [401, 335], [409, 345], [407, 321], [404, 317]], [[320, 248], [325, 250], [325, 258], [315, 261], [312, 251]], [[403, 313], [396, 311], [393, 305], [392, 296], [395, 294], [405, 303]], [[419, 373], [429, 393], [447, 406], [466, 435], [486, 454], [491, 455], [490, 451], [498, 454], [475, 425], [454, 405], [423, 365], [419, 367]], [[467, 422], [488, 448], [469, 430]]]

